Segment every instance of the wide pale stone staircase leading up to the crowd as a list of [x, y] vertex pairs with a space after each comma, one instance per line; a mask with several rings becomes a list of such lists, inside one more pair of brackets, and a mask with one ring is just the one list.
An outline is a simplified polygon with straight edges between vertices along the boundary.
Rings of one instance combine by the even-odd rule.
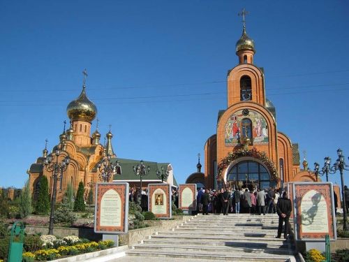
[[126, 259], [296, 261], [292, 242], [275, 238], [278, 221], [276, 214], [199, 214], [172, 231], [143, 240], [126, 252]]

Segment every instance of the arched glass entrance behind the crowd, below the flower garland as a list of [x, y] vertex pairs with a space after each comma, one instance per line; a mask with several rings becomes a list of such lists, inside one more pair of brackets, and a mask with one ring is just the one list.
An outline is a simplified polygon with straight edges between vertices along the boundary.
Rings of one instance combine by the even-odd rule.
[[232, 188], [267, 189], [275, 185], [270, 180], [267, 168], [253, 160], [236, 163], [227, 174], [227, 182]]

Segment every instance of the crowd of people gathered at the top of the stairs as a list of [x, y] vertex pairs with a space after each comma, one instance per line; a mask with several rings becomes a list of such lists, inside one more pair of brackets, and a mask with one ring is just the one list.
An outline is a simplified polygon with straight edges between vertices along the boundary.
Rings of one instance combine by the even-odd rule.
[[271, 214], [276, 213], [276, 204], [281, 196], [281, 189], [237, 189], [225, 188], [221, 190], [200, 189], [196, 197], [198, 212], [202, 214], [214, 213], [248, 213]]

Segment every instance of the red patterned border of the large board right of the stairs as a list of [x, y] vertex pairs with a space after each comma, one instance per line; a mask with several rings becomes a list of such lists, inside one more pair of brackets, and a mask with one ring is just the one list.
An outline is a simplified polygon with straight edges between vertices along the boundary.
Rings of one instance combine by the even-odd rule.
[[329, 238], [334, 239], [335, 238], [335, 233], [334, 233], [334, 217], [333, 217], [333, 207], [332, 207], [332, 195], [331, 195], [331, 186], [330, 184], [294, 184], [295, 187], [295, 199], [297, 201], [297, 214], [296, 215], [296, 220], [297, 220], [297, 238], [299, 240], [303, 238], [308, 238], [308, 239], [320, 239], [326, 237], [325, 232], [319, 232], [319, 233], [303, 233], [302, 232], [302, 210], [301, 210], [301, 201], [307, 192], [310, 190], [315, 190], [318, 191], [318, 193], [322, 194], [322, 196], [325, 198], [326, 205], [327, 205], [327, 219], [328, 219], [328, 234]]

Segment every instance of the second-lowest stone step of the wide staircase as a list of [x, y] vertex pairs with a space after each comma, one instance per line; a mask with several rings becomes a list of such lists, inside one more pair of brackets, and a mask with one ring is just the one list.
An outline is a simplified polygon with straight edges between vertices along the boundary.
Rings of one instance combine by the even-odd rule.
[[209, 245], [188, 245], [187, 243], [153, 243], [144, 245], [135, 245], [135, 249], [143, 250], [159, 250], [162, 252], [244, 252], [244, 253], [254, 253], [254, 254], [288, 254], [293, 255], [292, 251], [288, 247], [274, 247], [274, 248], [251, 248], [251, 247], [217, 247]]

